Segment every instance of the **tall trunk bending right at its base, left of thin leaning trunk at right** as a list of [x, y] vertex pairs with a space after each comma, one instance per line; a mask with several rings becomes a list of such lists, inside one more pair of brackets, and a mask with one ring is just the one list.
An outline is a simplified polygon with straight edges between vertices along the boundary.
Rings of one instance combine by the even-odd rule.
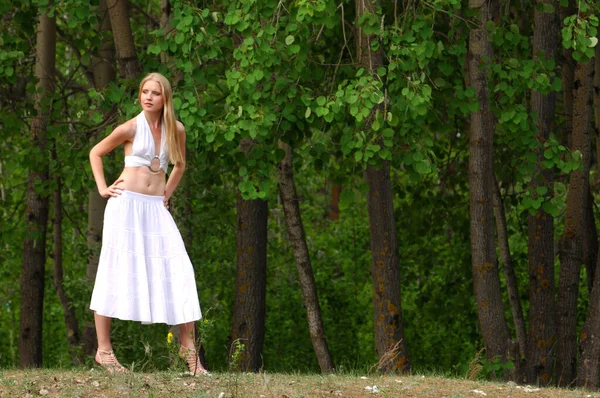
[[471, 114], [469, 137], [473, 286], [487, 359], [504, 362], [508, 359], [509, 332], [502, 308], [493, 214], [493, 139], [496, 121], [490, 109], [487, 72], [482, 69], [493, 58], [485, 25], [498, 15], [498, 2], [470, 0], [469, 7], [479, 14], [478, 26], [471, 28], [469, 33], [469, 75], [479, 101], [479, 110]]

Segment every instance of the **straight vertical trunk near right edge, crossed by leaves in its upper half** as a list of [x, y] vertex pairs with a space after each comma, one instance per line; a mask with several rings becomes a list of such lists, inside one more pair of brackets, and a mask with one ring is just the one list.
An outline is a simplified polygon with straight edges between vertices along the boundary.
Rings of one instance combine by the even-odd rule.
[[[558, 9], [556, 0], [538, 0]], [[558, 15], [541, 12], [535, 7], [533, 58], [554, 59], [557, 52]], [[538, 197], [537, 189], [546, 189], [544, 201], [554, 196], [554, 175], [544, 168], [544, 143], [554, 127], [556, 94], [531, 93], [531, 112], [537, 116], [537, 162], [531, 181], [531, 191]], [[529, 252], [529, 339], [526, 348], [526, 378], [528, 383], [548, 385], [554, 368], [556, 342], [556, 313], [554, 306], [554, 217], [542, 207], [528, 217]]]

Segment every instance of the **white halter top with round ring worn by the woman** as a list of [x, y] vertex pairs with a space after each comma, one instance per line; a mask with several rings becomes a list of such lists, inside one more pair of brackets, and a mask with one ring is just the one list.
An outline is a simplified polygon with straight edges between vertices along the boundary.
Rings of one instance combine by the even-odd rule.
[[160, 135], [160, 152], [158, 155], [156, 155], [156, 148], [154, 147], [154, 138], [152, 137], [150, 125], [148, 124], [143, 111], [137, 115], [136, 124], [131, 155], [125, 156], [125, 167], [150, 167], [152, 159], [158, 157], [160, 160], [160, 168], [166, 173], [169, 166], [169, 150], [166, 145], [164, 120], [161, 123], [162, 131]]

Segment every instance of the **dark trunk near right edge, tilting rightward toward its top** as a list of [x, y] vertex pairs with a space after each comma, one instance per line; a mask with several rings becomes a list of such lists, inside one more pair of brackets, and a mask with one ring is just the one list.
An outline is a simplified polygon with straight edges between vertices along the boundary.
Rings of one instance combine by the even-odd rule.
[[585, 212], [589, 197], [593, 71], [594, 64], [591, 61], [587, 64], [578, 63], [575, 68], [572, 150], [581, 152], [583, 168], [571, 172], [565, 231], [560, 248], [556, 377], [561, 386], [573, 383], [577, 366], [577, 297], [579, 273], [584, 262]]

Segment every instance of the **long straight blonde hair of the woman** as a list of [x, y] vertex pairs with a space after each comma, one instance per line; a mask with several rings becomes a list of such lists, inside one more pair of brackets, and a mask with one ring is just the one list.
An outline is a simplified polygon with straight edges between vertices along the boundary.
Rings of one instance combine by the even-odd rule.
[[173, 108], [173, 90], [171, 89], [171, 83], [167, 80], [166, 77], [161, 75], [160, 73], [149, 73], [142, 79], [140, 82], [140, 90], [138, 93], [138, 101], [141, 101], [142, 96], [142, 88], [147, 81], [155, 81], [157, 82], [161, 89], [164, 100], [163, 105], [163, 123], [165, 124], [165, 131], [167, 135], [167, 148], [169, 149], [169, 160], [171, 163], [175, 164], [177, 162], [183, 161], [183, 154], [181, 153], [181, 148], [179, 147], [180, 138], [179, 134], [177, 134], [177, 122], [175, 117], [175, 109]]

